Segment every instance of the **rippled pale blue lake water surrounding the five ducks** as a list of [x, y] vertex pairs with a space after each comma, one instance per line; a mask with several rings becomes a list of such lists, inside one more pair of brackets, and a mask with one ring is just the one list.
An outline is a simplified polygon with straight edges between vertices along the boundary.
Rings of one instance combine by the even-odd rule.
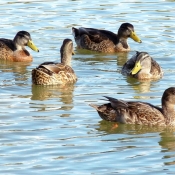
[[[163, 91], [175, 86], [174, 12], [174, 0], [1, 1], [0, 38], [26, 30], [40, 52], [28, 48], [30, 64], [0, 62], [0, 174], [174, 174], [173, 130], [115, 127], [89, 106], [105, 103], [104, 95], [160, 105]], [[77, 83], [32, 86], [32, 69], [59, 60], [63, 39], [73, 39], [71, 27], [117, 32], [123, 22], [132, 23], [143, 41], [129, 39], [131, 52], [77, 50], [74, 42]], [[141, 83], [120, 74], [136, 50], [162, 66], [161, 80]]]

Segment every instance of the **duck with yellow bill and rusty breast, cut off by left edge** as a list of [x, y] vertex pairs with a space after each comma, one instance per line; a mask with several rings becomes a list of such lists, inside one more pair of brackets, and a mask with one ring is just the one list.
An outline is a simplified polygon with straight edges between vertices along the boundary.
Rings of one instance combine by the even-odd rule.
[[19, 31], [13, 40], [0, 38], [0, 59], [15, 62], [31, 62], [33, 58], [25, 49], [25, 46], [39, 52], [30, 34], [26, 31]]

